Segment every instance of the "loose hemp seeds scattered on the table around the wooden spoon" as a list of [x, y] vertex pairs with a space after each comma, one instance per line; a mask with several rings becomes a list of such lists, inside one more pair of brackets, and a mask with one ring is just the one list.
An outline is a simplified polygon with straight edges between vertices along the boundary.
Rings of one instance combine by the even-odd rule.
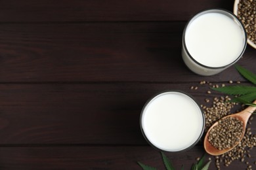
[[[228, 82], [228, 84], [232, 83], [240, 84], [240, 82], [233, 82], [232, 80]], [[203, 86], [207, 86], [207, 88], [219, 88], [226, 86], [226, 84], [212, 84], [211, 82], [202, 81], [198, 86], [191, 86], [190, 90], [198, 90], [203, 88]], [[206, 93], [209, 95], [212, 91], [207, 90]], [[213, 99], [205, 99], [205, 105], [201, 105], [205, 116], [205, 133], [209, 127], [224, 116], [234, 114], [245, 109], [245, 105], [228, 102], [230, 100], [231, 99], [228, 95], [213, 97]], [[256, 160], [251, 160], [250, 154], [250, 150], [256, 146], [256, 134], [252, 134], [251, 128], [249, 127], [251, 125], [251, 120], [253, 120], [253, 116], [251, 116], [247, 122], [247, 128], [242, 141], [240, 141], [240, 143], [229, 152], [214, 157], [217, 169], [221, 169], [221, 165], [228, 167], [232, 161], [241, 161], [241, 163], [245, 163], [245, 166], [247, 167], [246, 169], [248, 170], [252, 169], [253, 166], [256, 167]]]

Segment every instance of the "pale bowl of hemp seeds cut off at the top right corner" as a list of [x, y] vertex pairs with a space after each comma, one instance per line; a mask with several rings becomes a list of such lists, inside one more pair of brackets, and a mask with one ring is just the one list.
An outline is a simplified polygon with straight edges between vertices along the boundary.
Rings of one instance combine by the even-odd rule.
[[256, 49], [256, 1], [235, 0], [233, 12], [244, 24], [247, 43]]

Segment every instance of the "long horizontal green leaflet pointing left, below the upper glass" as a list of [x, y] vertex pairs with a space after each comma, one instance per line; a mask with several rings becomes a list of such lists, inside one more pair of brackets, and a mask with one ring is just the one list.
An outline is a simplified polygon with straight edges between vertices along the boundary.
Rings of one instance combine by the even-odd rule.
[[253, 86], [225, 86], [222, 88], [211, 88], [218, 92], [227, 93], [229, 95], [245, 95], [247, 93], [256, 92], [256, 87]]

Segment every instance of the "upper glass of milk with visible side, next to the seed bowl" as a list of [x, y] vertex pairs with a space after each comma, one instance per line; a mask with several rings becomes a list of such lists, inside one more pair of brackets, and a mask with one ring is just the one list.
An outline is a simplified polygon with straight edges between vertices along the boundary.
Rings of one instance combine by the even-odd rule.
[[245, 28], [234, 14], [203, 10], [184, 27], [182, 59], [198, 75], [215, 75], [242, 57], [246, 41]]

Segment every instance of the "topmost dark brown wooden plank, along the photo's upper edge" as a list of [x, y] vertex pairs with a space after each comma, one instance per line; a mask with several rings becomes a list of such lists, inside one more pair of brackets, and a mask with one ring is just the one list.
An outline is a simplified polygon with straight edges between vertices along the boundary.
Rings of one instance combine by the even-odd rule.
[[169, 21], [188, 20], [200, 10], [232, 10], [234, 1], [5, 0], [0, 22]]

